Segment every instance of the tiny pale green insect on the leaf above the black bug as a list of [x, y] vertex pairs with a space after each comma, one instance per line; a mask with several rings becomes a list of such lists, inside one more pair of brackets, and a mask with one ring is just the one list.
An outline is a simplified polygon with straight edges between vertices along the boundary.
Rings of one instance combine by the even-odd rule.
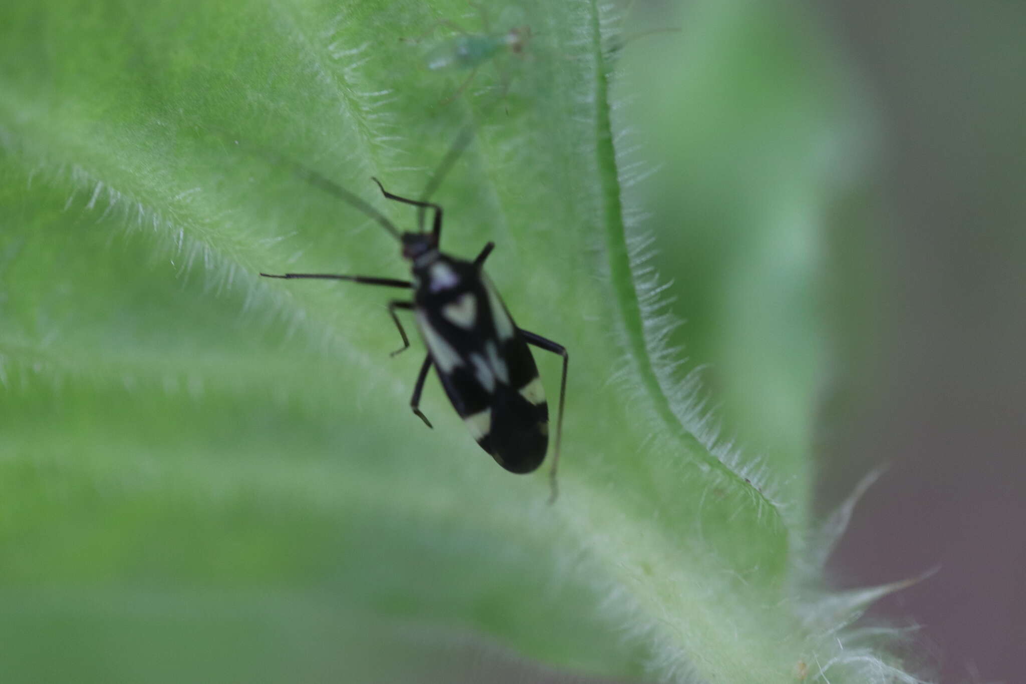
[[[501, 55], [513, 54], [522, 56], [530, 41], [530, 27], [518, 26], [508, 31], [491, 31], [487, 15], [482, 6], [477, 6], [481, 16], [481, 27], [483, 32], [471, 33], [465, 31], [455, 22], [449, 19], [439, 19], [434, 27], [428, 30], [433, 32], [438, 26], [445, 26], [455, 31], [455, 35], [437, 43], [428, 50], [425, 55], [425, 66], [431, 71], [467, 71], [470, 73], [464, 79], [456, 92], [443, 99], [440, 104], [447, 105], [459, 97], [473, 82], [477, 75], [477, 70], [484, 64], [494, 64], [499, 71], [502, 81], [502, 95], [509, 92], [510, 76], [502, 63]], [[407, 42], [418, 42], [407, 41]]]

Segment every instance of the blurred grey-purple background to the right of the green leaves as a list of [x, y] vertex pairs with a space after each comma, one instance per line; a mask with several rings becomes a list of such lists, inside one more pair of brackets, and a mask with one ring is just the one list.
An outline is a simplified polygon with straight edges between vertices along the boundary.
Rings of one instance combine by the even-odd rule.
[[[821, 421], [829, 500], [869, 461], [835, 559], [875, 582], [937, 564], [879, 614], [920, 625], [942, 682], [1021, 678], [1026, 630], [1026, 49], [1021, 3], [829, 3], [880, 130], [871, 371], [842, 368]], [[1017, 636], [1018, 635], [1018, 636]]]

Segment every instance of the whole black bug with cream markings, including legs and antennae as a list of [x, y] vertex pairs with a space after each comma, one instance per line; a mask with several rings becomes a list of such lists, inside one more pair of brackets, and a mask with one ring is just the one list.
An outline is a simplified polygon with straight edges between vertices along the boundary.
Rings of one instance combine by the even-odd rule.
[[[461, 147], [458, 143], [453, 148], [457, 154]], [[449, 151], [439, 171], [436, 171], [426, 197], [437, 187], [440, 174], [455, 159], [453, 150]], [[550, 501], [555, 500], [569, 357], [562, 345], [519, 328], [513, 322], [483, 270], [484, 260], [491, 253], [495, 243], [484, 245], [471, 261], [442, 253], [439, 250], [442, 230], [440, 205], [394, 195], [385, 190], [378, 178], [372, 178], [389, 200], [420, 207], [418, 232], [400, 232], [383, 213], [348, 190], [309, 169], [294, 165], [293, 169], [313, 185], [367, 214], [398, 239], [403, 258], [410, 261], [412, 280], [322, 273], [260, 275], [267, 278], [348, 280], [412, 289], [412, 301], [393, 299], [388, 305], [389, 314], [402, 337], [402, 347], [392, 355], [409, 348], [409, 339], [396, 316], [396, 310], [412, 311], [428, 354], [421, 364], [409, 405], [429, 428], [431, 423], [421, 412], [420, 401], [428, 371], [434, 366], [453, 408], [481, 448], [512, 473], [535, 471], [545, 460], [548, 451], [549, 407], [528, 345], [563, 358], [558, 425], [550, 471]], [[424, 230], [425, 210], [434, 212], [430, 232]]]

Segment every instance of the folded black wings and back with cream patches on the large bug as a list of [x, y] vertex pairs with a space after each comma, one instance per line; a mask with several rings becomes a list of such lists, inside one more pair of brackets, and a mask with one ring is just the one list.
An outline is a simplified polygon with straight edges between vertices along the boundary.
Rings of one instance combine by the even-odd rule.
[[418, 274], [417, 323], [471, 435], [513, 473], [541, 466], [549, 408], [538, 366], [487, 276], [440, 256]]

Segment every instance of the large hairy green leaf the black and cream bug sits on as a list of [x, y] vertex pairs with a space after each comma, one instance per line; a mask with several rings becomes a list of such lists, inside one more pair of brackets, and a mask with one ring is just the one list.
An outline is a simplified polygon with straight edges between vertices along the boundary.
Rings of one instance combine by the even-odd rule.
[[[461, 90], [467, 72], [423, 62], [453, 35], [439, 19], [531, 38]], [[793, 581], [807, 452], [785, 447], [807, 437], [807, 373], [758, 476], [675, 386], [614, 109], [627, 35], [591, 1], [0, 9], [4, 681], [396, 673], [422, 633], [608, 677], [788, 682], [820, 659], [834, 684], [866, 681]], [[518, 324], [570, 352], [552, 507], [435, 380], [436, 429], [409, 413], [422, 348], [389, 358], [388, 292], [258, 275], [402, 277], [385, 232], [283, 160], [411, 227], [370, 176], [418, 195], [468, 125], [435, 196], [444, 246], [494, 240]], [[794, 201], [818, 206], [805, 179]], [[686, 235], [661, 243], [664, 271]], [[706, 304], [743, 317], [735, 301]], [[816, 316], [782, 327], [818, 350]]]

